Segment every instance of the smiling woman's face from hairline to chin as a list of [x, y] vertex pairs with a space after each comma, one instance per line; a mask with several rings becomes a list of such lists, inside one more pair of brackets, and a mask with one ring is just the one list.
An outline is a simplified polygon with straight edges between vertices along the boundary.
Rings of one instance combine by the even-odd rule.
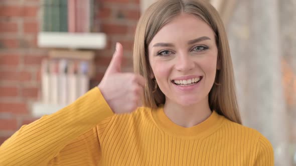
[[208, 100], [217, 54], [214, 32], [202, 19], [181, 14], [166, 24], [149, 44], [152, 76], [166, 102], [192, 105]]

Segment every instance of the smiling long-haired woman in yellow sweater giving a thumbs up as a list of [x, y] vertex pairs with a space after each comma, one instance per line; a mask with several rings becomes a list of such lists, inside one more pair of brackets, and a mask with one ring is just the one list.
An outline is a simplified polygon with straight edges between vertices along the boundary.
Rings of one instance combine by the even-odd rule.
[[120, 72], [122, 51], [117, 43], [98, 87], [4, 142], [0, 163], [273, 165], [270, 142], [241, 125], [225, 29], [208, 2], [157, 1], [136, 28], [135, 73]]

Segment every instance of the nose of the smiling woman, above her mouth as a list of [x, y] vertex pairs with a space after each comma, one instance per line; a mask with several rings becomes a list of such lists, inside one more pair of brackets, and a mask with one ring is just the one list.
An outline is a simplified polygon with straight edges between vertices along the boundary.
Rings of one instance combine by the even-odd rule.
[[192, 56], [188, 52], [181, 52], [177, 58], [175, 68], [178, 71], [190, 71], [195, 66]]

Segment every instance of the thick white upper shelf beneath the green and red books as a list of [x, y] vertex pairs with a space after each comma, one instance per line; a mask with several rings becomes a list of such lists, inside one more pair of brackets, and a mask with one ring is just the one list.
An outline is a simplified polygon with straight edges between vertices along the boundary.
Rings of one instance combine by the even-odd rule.
[[39, 32], [38, 46], [47, 48], [103, 49], [105, 33]]

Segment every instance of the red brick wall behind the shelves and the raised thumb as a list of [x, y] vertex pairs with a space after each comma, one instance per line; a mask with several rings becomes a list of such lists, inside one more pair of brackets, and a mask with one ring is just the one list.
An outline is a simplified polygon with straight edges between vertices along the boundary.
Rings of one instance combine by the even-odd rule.
[[[41, 60], [48, 49], [37, 46], [41, 0], [0, 1], [0, 144], [23, 124], [35, 120], [31, 104], [38, 100]], [[134, 29], [139, 0], [95, 0], [93, 31], [107, 34], [107, 46], [96, 50], [97, 85], [109, 64], [115, 43], [123, 44], [123, 70], [132, 70]]]

